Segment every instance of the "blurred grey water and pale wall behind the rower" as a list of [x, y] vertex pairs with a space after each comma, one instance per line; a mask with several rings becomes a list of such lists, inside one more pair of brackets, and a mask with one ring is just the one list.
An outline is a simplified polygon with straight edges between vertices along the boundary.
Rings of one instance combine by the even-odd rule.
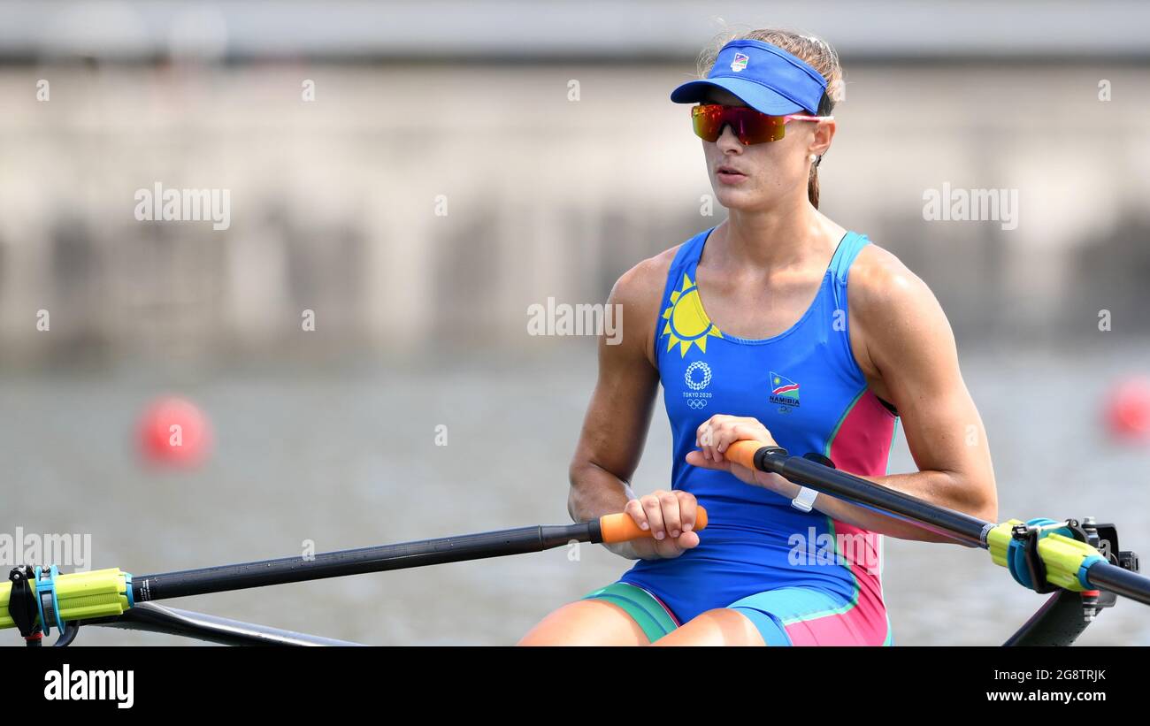
[[[1118, 1], [0, 1], [0, 528], [91, 533], [95, 567], [141, 574], [566, 522], [595, 339], [531, 335], [528, 309], [601, 303], [721, 222], [668, 94], [715, 34], [782, 26], [842, 56], [820, 209], [941, 300], [1003, 516], [1116, 520], [1150, 553], [1150, 448], [1104, 420], [1150, 372], [1148, 25]], [[139, 221], [156, 185], [227, 191], [230, 224]], [[1017, 226], [926, 219], [944, 185], [1017, 192]], [[201, 466], [140, 464], [162, 394], [209, 418]], [[661, 406], [639, 492], [667, 486]], [[913, 469], [899, 437], [890, 470]], [[984, 555], [888, 542], [898, 643], [1000, 642], [1041, 602]], [[499, 644], [628, 564], [585, 547], [172, 604]], [[1150, 610], [1080, 642], [1150, 644]]]

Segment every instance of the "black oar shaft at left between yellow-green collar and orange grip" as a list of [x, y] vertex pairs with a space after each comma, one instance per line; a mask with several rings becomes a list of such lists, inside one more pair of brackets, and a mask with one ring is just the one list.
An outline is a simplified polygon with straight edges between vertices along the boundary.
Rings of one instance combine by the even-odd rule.
[[537, 553], [570, 541], [598, 542], [599, 522], [561, 526], [532, 526], [482, 532], [419, 542], [400, 542], [310, 558], [283, 557], [200, 570], [183, 570], [132, 578], [136, 602], [187, 597], [207, 593], [302, 582], [365, 572], [422, 567], [465, 559]]

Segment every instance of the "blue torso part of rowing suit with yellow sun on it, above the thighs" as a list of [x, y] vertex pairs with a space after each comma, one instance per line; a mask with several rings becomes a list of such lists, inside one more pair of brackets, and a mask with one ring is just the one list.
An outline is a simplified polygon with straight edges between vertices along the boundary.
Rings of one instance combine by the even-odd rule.
[[691, 238], [675, 255], [656, 331], [674, 441], [672, 487], [692, 493], [710, 524], [695, 549], [674, 559], [638, 561], [621, 581], [651, 592], [680, 621], [756, 593], [810, 586], [884, 623], [879, 535], [684, 461], [696, 448], [698, 426], [727, 414], [758, 419], [791, 454], [818, 453], [860, 476], [887, 473], [897, 417], [868, 391], [848, 325], [848, 273], [868, 240], [854, 232], [843, 237], [814, 301], [793, 326], [746, 339], [719, 330], [699, 299], [696, 268], [713, 231]]

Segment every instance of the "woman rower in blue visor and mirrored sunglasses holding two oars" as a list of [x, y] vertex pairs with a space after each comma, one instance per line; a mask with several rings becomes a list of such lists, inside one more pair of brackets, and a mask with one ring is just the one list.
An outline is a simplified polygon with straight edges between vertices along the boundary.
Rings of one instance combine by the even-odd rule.
[[[930, 289], [819, 209], [842, 69], [808, 36], [757, 30], [704, 55], [691, 109], [728, 217], [624, 273], [626, 335], [599, 378], [570, 465], [583, 522], [626, 510], [650, 540], [616, 582], [549, 615], [522, 644], [888, 644], [881, 535], [946, 541], [724, 458], [754, 439], [997, 520], [990, 453]], [[849, 285], [848, 285], [849, 280]], [[636, 496], [659, 384], [670, 491]], [[920, 471], [887, 474], [898, 418]], [[710, 524], [693, 530], [697, 507]]]

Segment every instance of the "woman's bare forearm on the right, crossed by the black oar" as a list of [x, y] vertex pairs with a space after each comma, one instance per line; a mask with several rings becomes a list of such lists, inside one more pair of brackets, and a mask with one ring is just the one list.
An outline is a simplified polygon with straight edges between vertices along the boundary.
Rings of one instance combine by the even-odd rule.
[[[960, 474], [943, 471], [919, 471], [910, 474], [891, 474], [888, 477], [864, 477], [884, 487], [897, 489], [931, 504], [960, 511], [972, 517], [997, 522], [998, 505], [992, 494], [994, 486], [984, 486], [969, 481]], [[935, 534], [922, 527], [881, 515], [874, 510], [852, 504], [843, 500], [820, 494], [815, 500], [815, 509], [822, 513], [845, 522], [846, 524], [887, 534], [903, 540], [922, 542], [953, 542], [952, 539]]]

